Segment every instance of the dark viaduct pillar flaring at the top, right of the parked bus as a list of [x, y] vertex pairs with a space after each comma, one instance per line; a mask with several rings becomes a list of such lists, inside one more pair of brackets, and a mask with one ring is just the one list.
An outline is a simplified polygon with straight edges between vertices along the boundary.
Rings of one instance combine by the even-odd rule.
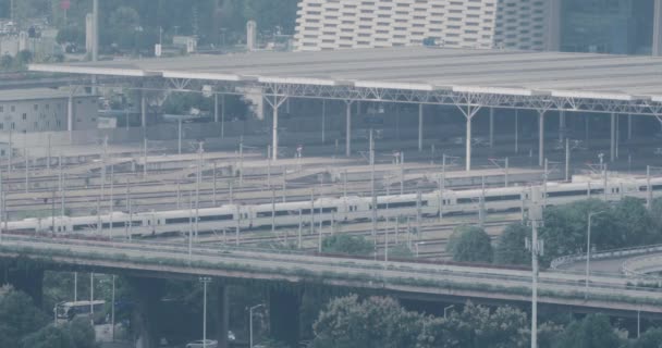
[[136, 300], [138, 337], [143, 341], [143, 347], [157, 348], [159, 346], [158, 310], [164, 293], [164, 281], [127, 277], [127, 282]]

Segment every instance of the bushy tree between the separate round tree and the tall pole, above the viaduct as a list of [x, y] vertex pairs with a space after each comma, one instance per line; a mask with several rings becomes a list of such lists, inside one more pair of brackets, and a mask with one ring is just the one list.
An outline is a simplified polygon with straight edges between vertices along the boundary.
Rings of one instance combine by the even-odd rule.
[[531, 254], [525, 248], [525, 239], [531, 235], [531, 228], [514, 223], [507, 225], [494, 250], [494, 262], [500, 264], [530, 264]]

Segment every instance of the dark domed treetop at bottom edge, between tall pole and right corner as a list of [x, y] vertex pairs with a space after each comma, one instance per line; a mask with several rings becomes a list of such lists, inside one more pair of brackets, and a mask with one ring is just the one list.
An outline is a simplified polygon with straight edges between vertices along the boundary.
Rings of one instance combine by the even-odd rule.
[[557, 337], [555, 348], [603, 348], [623, 344], [612, 328], [609, 316], [589, 314], [571, 323]]

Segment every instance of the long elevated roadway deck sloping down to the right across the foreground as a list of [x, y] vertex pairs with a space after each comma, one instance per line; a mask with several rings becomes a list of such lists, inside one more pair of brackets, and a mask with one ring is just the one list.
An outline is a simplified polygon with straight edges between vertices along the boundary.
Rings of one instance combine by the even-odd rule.
[[[424, 299], [448, 297], [505, 301], [530, 300], [531, 273], [446, 263], [372, 261], [278, 251], [184, 247], [154, 241], [91, 241], [4, 235], [0, 258], [28, 258], [40, 264], [85, 268], [159, 277], [198, 277], [309, 282], [350, 286]], [[662, 291], [630, 286], [625, 276], [541, 272], [539, 301], [612, 311], [662, 314]]]

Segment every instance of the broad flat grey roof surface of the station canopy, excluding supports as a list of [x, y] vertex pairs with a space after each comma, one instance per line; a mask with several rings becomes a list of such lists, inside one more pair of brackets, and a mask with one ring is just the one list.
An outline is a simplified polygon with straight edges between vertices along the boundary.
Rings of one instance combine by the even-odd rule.
[[662, 58], [637, 55], [399, 47], [33, 64], [30, 70], [662, 102]]

